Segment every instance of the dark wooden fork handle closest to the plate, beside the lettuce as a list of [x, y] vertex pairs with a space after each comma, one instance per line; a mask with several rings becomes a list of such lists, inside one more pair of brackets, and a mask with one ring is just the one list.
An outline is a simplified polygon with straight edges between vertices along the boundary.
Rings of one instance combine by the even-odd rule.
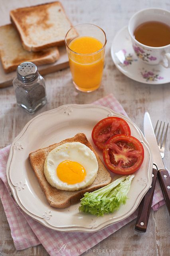
[[156, 169], [152, 169], [152, 185], [142, 201], [139, 204], [139, 211], [138, 216], [136, 220], [135, 230], [138, 232], [146, 232], [146, 228], [148, 226], [148, 219], [150, 214], [150, 209], [152, 205], [152, 200], [154, 196], [154, 189], [156, 184], [156, 177], [157, 177], [158, 171]]

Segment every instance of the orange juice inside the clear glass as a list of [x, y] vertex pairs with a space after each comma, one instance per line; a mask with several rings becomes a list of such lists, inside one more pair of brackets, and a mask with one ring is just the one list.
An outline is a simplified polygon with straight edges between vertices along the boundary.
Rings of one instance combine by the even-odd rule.
[[69, 44], [69, 65], [75, 86], [82, 91], [96, 90], [103, 74], [105, 49], [96, 38], [82, 36]]

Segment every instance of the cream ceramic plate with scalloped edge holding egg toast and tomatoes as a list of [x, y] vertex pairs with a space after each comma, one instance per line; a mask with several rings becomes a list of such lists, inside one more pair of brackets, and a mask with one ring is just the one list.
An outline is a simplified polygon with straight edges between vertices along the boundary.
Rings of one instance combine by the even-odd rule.
[[[132, 136], [138, 138], [144, 146], [144, 162], [135, 172], [126, 205], [113, 214], [105, 214], [104, 217], [80, 213], [79, 203], [65, 209], [52, 208], [32, 171], [28, 160], [29, 153], [73, 137], [78, 132], [84, 132], [94, 146], [91, 131], [99, 120], [107, 116], [124, 118], [130, 126]], [[97, 152], [103, 160], [101, 152]], [[7, 178], [17, 204], [44, 226], [67, 232], [96, 232], [124, 220], [136, 210], [152, 183], [152, 163], [148, 142], [130, 119], [102, 106], [70, 104], [43, 112], [26, 124], [12, 143], [7, 163]]]

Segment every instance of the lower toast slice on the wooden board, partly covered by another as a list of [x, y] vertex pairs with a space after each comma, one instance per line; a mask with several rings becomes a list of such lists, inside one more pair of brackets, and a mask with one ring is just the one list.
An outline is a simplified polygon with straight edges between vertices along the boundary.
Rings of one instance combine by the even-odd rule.
[[51, 47], [41, 52], [28, 52], [22, 47], [18, 32], [8, 24], [0, 27], [0, 58], [6, 73], [16, 70], [25, 61], [36, 65], [53, 63], [59, 59], [57, 47]]

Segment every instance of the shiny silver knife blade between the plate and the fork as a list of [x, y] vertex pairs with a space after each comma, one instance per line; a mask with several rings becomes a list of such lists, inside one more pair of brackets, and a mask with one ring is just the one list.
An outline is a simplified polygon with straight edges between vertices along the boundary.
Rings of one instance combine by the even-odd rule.
[[148, 112], [144, 114], [144, 136], [152, 150], [154, 164], [156, 164], [158, 170], [164, 169], [164, 163], [160, 155], [158, 143], [156, 141], [154, 129]]

